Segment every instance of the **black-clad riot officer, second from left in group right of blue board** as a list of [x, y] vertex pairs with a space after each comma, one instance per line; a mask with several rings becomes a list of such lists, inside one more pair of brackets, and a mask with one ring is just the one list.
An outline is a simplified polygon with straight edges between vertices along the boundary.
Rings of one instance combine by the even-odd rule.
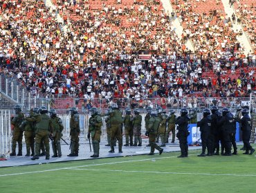
[[217, 121], [221, 119], [221, 116], [217, 106], [212, 106], [211, 112], [212, 112], [211, 114], [212, 125], [210, 128], [210, 132], [212, 136], [212, 153], [215, 152], [214, 155], [219, 155], [219, 141], [221, 141], [221, 127], [217, 125]]

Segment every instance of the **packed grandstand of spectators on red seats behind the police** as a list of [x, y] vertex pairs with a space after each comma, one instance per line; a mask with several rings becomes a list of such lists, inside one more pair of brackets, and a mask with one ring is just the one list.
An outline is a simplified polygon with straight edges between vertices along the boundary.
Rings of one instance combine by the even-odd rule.
[[187, 96], [192, 108], [199, 97], [255, 92], [253, 0], [231, 0], [232, 17], [220, 0], [171, 0], [172, 12], [160, 0], [46, 2], [0, 2], [0, 73], [32, 96], [81, 99], [80, 108], [97, 105], [95, 99], [140, 108], [158, 99], [175, 107]]

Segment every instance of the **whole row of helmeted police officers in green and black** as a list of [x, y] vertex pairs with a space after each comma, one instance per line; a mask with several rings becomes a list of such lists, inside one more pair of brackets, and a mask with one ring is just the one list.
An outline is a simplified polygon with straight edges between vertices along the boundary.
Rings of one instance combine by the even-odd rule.
[[[71, 108], [71, 153], [68, 156], [78, 156], [79, 152], [79, 114], [76, 108]], [[43, 106], [42, 108], [34, 108], [30, 110], [30, 115], [24, 117], [19, 105], [15, 106], [15, 116], [12, 117], [11, 123], [14, 125], [12, 136], [12, 153], [10, 156], [16, 155], [16, 145], [19, 145], [18, 156], [22, 155], [22, 136], [25, 131], [26, 140], [26, 156], [33, 156], [32, 160], [39, 159], [39, 155], [46, 155], [46, 159], [50, 158], [49, 137], [52, 140], [53, 157], [61, 157], [60, 139], [62, 137], [62, 120], [57, 117], [55, 110], [50, 110], [51, 117], [46, 113], [48, 110]], [[125, 116], [122, 117], [118, 105], [113, 103], [105, 114], [99, 114], [97, 108], [91, 108], [91, 117], [89, 119], [89, 132], [87, 138], [92, 140], [93, 155], [91, 157], [97, 158], [100, 151], [100, 136], [102, 134], [102, 116], [107, 116], [105, 121], [107, 123], [107, 146], [110, 146], [109, 153], [115, 152], [114, 146], [118, 141], [118, 152], [122, 153], [122, 126], [125, 128], [125, 146], [141, 146], [141, 123], [142, 116], [138, 109], [134, 110], [134, 115], [131, 115], [131, 110], [125, 110]], [[235, 143], [236, 121], [241, 123], [242, 136], [244, 141], [244, 154], [253, 154], [255, 150], [250, 146], [250, 132], [251, 119], [248, 115], [248, 109], [237, 110], [234, 117], [228, 108], [223, 108], [222, 115], [216, 106], [203, 110], [203, 119], [197, 122], [197, 126], [201, 131], [202, 153], [199, 156], [219, 155], [219, 141], [221, 141], [221, 155], [231, 155], [231, 144], [234, 148], [232, 154], [237, 154], [237, 145]], [[149, 155], [154, 154], [154, 150], [158, 150], [162, 154], [165, 143], [168, 143], [170, 132], [172, 132], [172, 143], [175, 140], [175, 125], [177, 125], [181, 155], [179, 157], [188, 156], [188, 124], [196, 123], [196, 110], [181, 109], [181, 115], [176, 118], [174, 111], [170, 110], [169, 114], [165, 114], [165, 110], [161, 107], [152, 109], [147, 108], [145, 116], [146, 136], [149, 136], [149, 145], [151, 147]], [[133, 140], [134, 138], [134, 140]], [[161, 145], [156, 143], [161, 139]], [[157, 141], [156, 141], [157, 140]], [[34, 150], [35, 143], [35, 150]], [[44, 147], [46, 148], [44, 154]], [[43, 150], [40, 154], [40, 149]], [[205, 150], [208, 153], [205, 154]], [[31, 154], [30, 154], [31, 150]], [[250, 151], [250, 152], [249, 152]]]

